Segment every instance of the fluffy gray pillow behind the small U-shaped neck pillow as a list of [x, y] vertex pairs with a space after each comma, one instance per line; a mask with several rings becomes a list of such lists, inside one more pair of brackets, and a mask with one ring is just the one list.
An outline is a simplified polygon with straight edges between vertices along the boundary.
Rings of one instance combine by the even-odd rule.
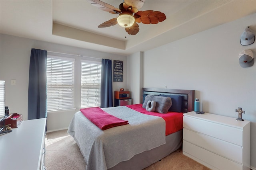
[[144, 109], [146, 109], [149, 100], [156, 102], [155, 111], [158, 113], [167, 113], [172, 106], [172, 99], [170, 97], [148, 95], [145, 97], [144, 103], [142, 104]]

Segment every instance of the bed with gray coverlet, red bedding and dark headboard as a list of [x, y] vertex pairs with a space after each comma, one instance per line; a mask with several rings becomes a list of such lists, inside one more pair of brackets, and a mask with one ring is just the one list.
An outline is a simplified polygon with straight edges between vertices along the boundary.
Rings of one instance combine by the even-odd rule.
[[[142, 88], [141, 104], [101, 108], [110, 115], [128, 120], [127, 125], [101, 130], [78, 111], [68, 133], [84, 156], [86, 170], [141, 170], [182, 146], [182, 121], [175, 118], [167, 123], [166, 119], [154, 115], [167, 114], [143, 111], [142, 104], [149, 96], [179, 96], [180, 112], [168, 114], [179, 115], [181, 120], [182, 113], [194, 110], [194, 90]], [[167, 133], [169, 124], [178, 124], [178, 129]]]

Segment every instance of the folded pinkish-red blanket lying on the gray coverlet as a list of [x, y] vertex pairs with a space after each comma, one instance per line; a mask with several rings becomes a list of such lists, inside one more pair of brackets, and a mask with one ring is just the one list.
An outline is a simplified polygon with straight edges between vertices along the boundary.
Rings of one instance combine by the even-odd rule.
[[84, 108], [80, 109], [80, 111], [87, 119], [102, 130], [129, 124], [128, 121], [110, 115], [106, 111], [100, 109], [100, 107]]

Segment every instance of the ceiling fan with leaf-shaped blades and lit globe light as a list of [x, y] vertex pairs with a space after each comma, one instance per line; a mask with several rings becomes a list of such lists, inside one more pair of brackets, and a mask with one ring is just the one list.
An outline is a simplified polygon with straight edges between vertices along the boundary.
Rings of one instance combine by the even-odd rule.
[[130, 35], [136, 35], [140, 28], [138, 23], [144, 24], [156, 24], [166, 19], [164, 13], [159, 11], [147, 10], [139, 11], [142, 8], [145, 0], [123, 0], [119, 5], [119, 8], [102, 2], [100, 0], [88, 0], [90, 4], [100, 8], [103, 11], [107, 11], [111, 14], [119, 14], [117, 18], [112, 18], [98, 26], [98, 28], [110, 27], [117, 23], [125, 28], [125, 31]]

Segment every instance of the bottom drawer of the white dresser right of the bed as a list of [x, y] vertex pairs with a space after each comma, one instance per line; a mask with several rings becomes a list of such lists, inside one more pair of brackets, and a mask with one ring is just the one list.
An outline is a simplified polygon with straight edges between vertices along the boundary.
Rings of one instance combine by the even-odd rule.
[[183, 141], [183, 152], [184, 154], [193, 155], [199, 160], [201, 163], [207, 162], [211, 166], [215, 167], [219, 170], [241, 170], [242, 165], [231, 160], [228, 160], [218, 154], [210, 152], [208, 150], [202, 149], [196, 145]]

